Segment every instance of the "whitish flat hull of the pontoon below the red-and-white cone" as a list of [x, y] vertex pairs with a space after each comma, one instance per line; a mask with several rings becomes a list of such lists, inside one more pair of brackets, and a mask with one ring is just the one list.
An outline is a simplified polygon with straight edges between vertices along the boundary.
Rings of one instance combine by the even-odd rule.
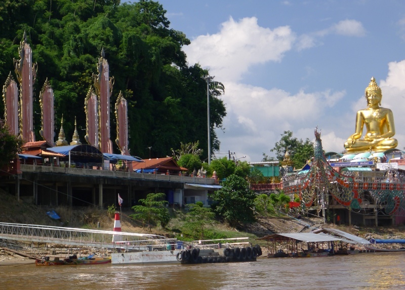
[[111, 264], [180, 264], [176, 255], [180, 250], [111, 253]]

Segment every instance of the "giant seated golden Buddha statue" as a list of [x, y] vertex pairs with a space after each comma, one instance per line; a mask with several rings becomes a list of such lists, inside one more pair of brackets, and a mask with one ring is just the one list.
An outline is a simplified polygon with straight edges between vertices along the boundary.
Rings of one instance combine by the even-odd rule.
[[[395, 148], [398, 141], [395, 135], [394, 116], [389, 108], [381, 107], [381, 88], [374, 77], [366, 88], [365, 95], [368, 107], [357, 111], [356, 128], [344, 144], [347, 152], [382, 152]], [[363, 127], [366, 126], [366, 135], [361, 138]]]

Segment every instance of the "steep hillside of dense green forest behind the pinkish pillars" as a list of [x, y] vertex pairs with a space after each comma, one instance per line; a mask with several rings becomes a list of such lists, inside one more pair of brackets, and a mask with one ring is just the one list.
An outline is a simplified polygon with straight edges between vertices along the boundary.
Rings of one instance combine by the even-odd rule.
[[[63, 114], [63, 128], [70, 141], [74, 118], [80, 140], [85, 142], [85, 97], [97, 73], [102, 48], [115, 83], [111, 103], [111, 140], [115, 140], [114, 104], [119, 91], [128, 100], [131, 155], [149, 158], [171, 155], [180, 142], [207, 144], [208, 71], [187, 63], [181, 50], [190, 41], [170, 28], [166, 10], [159, 3], [140, 0], [7, 0], [0, 3], [0, 83], [10, 71], [24, 31], [38, 69], [34, 84], [34, 129], [41, 140], [39, 91], [48, 78], [55, 93], [56, 136]], [[192, 25], [192, 23], [190, 23]], [[210, 88], [211, 142], [226, 116], [219, 98], [221, 83]], [[4, 103], [0, 104], [4, 114]], [[115, 143], [114, 143], [115, 146]], [[206, 148], [203, 146], [203, 148]], [[118, 153], [117, 147], [114, 153]], [[201, 156], [207, 158], [207, 150]]]

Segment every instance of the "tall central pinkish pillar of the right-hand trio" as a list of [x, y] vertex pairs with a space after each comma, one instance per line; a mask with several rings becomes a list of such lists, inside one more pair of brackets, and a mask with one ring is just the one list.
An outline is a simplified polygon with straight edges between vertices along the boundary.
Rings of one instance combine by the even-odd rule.
[[110, 97], [114, 78], [109, 77], [109, 65], [104, 58], [104, 48], [98, 59], [98, 75], [93, 75], [94, 87], [99, 97], [99, 149], [102, 153], [112, 154], [112, 142], [110, 140]]

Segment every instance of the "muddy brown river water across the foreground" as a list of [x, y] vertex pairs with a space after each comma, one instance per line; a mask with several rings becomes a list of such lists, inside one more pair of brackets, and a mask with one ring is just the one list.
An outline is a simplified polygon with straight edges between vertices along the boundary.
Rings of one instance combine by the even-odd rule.
[[405, 252], [197, 265], [0, 267], [0, 289], [405, 289]]

